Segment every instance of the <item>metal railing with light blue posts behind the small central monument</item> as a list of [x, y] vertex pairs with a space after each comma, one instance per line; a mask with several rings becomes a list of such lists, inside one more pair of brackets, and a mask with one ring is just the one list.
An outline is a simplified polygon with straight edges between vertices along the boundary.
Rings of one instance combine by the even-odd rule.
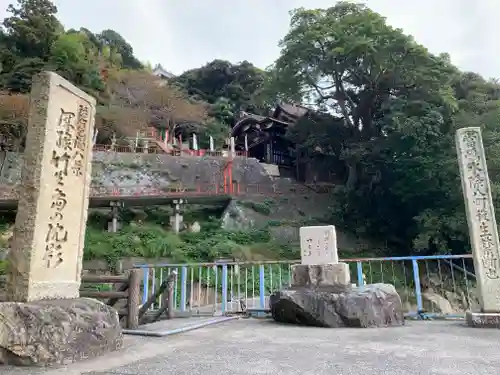
[[[408, 315], [463, 315], [474, 303], [475, 275], [471, 255], [344, 259], [357, 286], [393, 284]], [[291, 266], [300, 261], [142, 264], [142, 303], [162, 281], [177, 272], [174, 307], [193, 315], [265, 309], [269, 295], [291, 283]], [[439, 306], [440, 298], [455, 299]], [[152, 309], [161, 307], [159, 298]], [[450, 306], [453, 311], [450, 311]]]

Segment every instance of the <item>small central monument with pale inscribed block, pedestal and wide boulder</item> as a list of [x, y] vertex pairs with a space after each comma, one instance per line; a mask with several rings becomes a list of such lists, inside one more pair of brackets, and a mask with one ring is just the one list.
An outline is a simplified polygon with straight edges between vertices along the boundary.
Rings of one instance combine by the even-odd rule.
[[300, 228], [301, 264], [292, 266], [290, 288], [270, 297], [274, 320], [320, 327], [404, 324], [394, 286], [353, 287], [349, 265], [339, 262], [335, 227]]

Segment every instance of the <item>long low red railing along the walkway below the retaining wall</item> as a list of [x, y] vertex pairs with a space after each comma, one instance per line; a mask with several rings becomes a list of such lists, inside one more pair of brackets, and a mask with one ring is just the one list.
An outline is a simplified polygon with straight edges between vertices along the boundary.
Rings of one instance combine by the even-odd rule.
[[[16, 185], [0, 186], [0, 200], [17, 199]], [[328, 191], [323, 191], [326, 193]], [[219, 186], [217, 184], [199, 184], [191, 187], [183, 186], [100, 186], [90, 187], [91, 198], [140, 198], [140, 197], [210, 197], [210, 196], [309, 196], [313, 192], [307, 186], [290, 188], [276, 188], [270, 184], [242, 185], [233, 183], [232, 186]]]

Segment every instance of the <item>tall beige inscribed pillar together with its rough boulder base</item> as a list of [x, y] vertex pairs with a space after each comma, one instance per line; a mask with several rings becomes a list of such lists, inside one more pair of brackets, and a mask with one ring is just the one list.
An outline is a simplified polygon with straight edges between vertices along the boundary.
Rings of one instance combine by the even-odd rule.
[[34, 77], [0, 363], [65, 363], [122, 345], [117, 312], [79, 298], [94, 116], [95, 99], [62, 77]]

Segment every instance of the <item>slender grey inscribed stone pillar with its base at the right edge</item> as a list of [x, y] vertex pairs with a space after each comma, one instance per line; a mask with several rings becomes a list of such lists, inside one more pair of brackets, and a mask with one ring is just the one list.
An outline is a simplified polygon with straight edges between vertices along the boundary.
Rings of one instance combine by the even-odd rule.
[[458, 129], [456, 146], [481, 311], [468, 311], [474, 327], [500, 328], [500, 248], [481, 128]]

